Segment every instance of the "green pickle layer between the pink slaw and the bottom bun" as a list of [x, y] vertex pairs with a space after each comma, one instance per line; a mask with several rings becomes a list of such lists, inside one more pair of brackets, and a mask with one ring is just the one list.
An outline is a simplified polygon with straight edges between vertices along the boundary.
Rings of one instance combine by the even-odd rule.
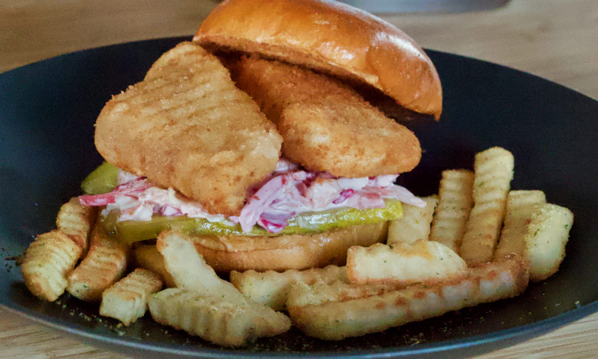
[[209, 222], [204, 218], [187, 216], [154, 215], [151, 221], [117, 221], [118, 213], [111, 212], [102, 221], [118, 240], [124, 243], [154, 239], [167, 228], [181, 228], [188, 234], [213, 234], [217, 236], [278, 236], [279, 234], [313, 234], [351, 225], [391, 221], [402, 216], [401, 202], [385, 200], [385, 208], [355, 209], [339, 208], [322, 212], [307, 212], [289, 219], [289, 225], [279, 233], [270, 233], [258, 225], [251, 232], [241, 230], [240, 225], [227, 225], [222, 222]]

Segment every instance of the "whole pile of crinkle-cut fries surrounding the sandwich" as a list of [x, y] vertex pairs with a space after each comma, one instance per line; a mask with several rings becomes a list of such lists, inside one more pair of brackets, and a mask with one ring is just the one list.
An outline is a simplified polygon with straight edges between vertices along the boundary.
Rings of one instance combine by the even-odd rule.
[[149, 308], [158, 323], [227, 347], [292, 325], [325, 340], [380, 332], [517, 296], [556, 273], [573, 214], [542, 191], [511, 190], [513, 171], [509, 151], [489, 148], [476, 154], [474, 171], [444, 171], [426, 208], [404, 205], [386, 243], [351, 247], [345, 266], [233, 271], [230, 281], [181, 230], [164, 230], [155, 245], [123, 245], [75, 197], [57, 230], [26, 250], [23, 278], [38, 298], [66, 291], [124, 325]]

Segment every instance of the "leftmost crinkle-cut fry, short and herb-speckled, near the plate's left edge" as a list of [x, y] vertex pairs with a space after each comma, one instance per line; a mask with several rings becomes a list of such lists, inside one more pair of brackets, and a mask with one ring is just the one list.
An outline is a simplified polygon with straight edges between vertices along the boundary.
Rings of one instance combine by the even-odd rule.
[[80, 255], [81, 247], [61, 231], [40, 234], [25, 251], [21, 264], [25, 285], [38, 298], [56, 301], [65, 292], [66, 276]]

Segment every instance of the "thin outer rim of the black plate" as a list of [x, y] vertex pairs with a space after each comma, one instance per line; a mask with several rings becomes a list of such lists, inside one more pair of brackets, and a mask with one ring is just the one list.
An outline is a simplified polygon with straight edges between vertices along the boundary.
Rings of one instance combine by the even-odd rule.
[[[48, 63], [51, 61], [55, 61], [57, 58], [66, 57], [66, 56], [78, 54], [81, 52], [102, 51], [102, 49], [115, 48], [115, 47], [127, 47], [132, 44], [138, 44], [140, 42], [163, 42], [163, 41], [177, 41], [177, 40], [185, 41], [185, 40], [190, 39], [191, 37], [192, 36], [190, 36], [190, 35], [168, 36], [168, 37], [164, 37], [164, 38], [150, 38], [150, 39], [143, 39], [143, 40], [138, 40], [138, 41], [127, 41], [127, 42], [122, 42], [122, 43], [118, 43], [118, 44], [100, 45], [97, 47], [80, 49], [77, 51], [72, 51], [72, 52], [68, 52], [65, 54], [60, 54], [60, 55], [56, 55], [53, 57], [44, 58], [42, 60], [34, 61], [32, 63], [23, 64], [22, 66], [19, 66], [14, 69], [10, 69], [10, 70], [0, 73], [0, 77], [11, 76], [11, 75], [16, 74], [17, 72], [26, 71], [28, 67], [39, 66], [39, 64]], [[575, 89], [568, 88], [564, 85], [560, 85], [557, 82], [551, 81], [546, 78], [542, 78], [541, 76], [534, 75], [533, 73], [524, 72], [522, 70], [515, 69], [514, 67], [501, 65], [501, 64], [494, 63], [494, 62], [488, 61], [488, 60], [481, 60], [478, 58], [469, 57], [467, 55], [459, 55], [459, 54], [454, 54], [451, 52], [439, 51], [439, 50], [429, 49], [429, 48], [424, 48], [424, 49], [426, 52], [430, 51], [430, 52], [435, 52], [437, 54], [450, 55], [451, 57], [463, 58], [463, 59], [467, 59], [468, 61], [471, 61], [471, 60], [472, 61], [480, 61], [480, 62], [483, 62], [486, 64], [490, 64], [492, 66], [498, 66], [498, 67], [502, 67], [505, 69], [509, 69], [514, 72], [523, 74], [525, 76], [532, 76], [534, 78], [541, 79], [544, 82], [549, 82], [553, 85], [557, 85], [562, 88], [565, 88], [568, 91], [575, 92], [576, 94], [582, 95], [583, 97], [588, 98], [589, 100], [598, 102], [598, 100], [596, 100], [592, 97], [589, 97], [588, 95], [585, 95], [579, 91], [576, 91]], [[127, 348], [131, 348], [131, 349], [143, 349], [144, 351], [155, 351], [160, 354], [175, 354], [175, 355], [185, 355], [185, 356], [191, 356], [191, 357], [196, 357], [197, 355], [203, 355], [203, 357], [209, 357], [209, 358], [222, 357], [222, 355], [225, 355], [227, 358], [241, 358], [241, 357], [243, 357], [243, 358], [248, 358], [248, 357], [259, 358], [259, 357], [273, 357], [273, 356], [279, 356], [279, 355], [283, 355], [285, 357], [289, 357], [289, 356], [290, 357], [305, 357], [305, 356], [330, 357], [330, 355], [332, 355], [333, 357], [344, 357], [344, 358], [359, 357], [359, 358], [362, 358], [364, 356], [379, 357], [378, 355], [384, 356], [385, 354], [386, 355], [388, 355], [388, 354], [398, 355], [401, 357], [408, 356], [408, 355], [416, 355], [416, 354], [435, 354], [435, 353], [437, 354], [437, 353], [441, 353], [443, 351], [448, 351], [451, 349], [475, 348], [477, 346], [481, 346], [481, 345], [484, 345], [487, 343], [505, 342], [505, 341], [508, 341], [509, 339], [515, 339], [515, 338], [524, 338], [524, 341], [527, 341], [531, 338], [535, 338], [536, 336], [559, 329], [560, 327], [566, 326], [567, 324], [570, 324], [573, 321], [579, 320], [579, 319], [587, 317], [588, 315], [591, 315], [595, 312], [598, 312], [598, 299], [596, 299], [592, 302], [588, 302], [584, 305], [579, 305], [578, 307], [573, 308], [572, 310], [557, 314], [553, 317], [545, 318], [543, 320], [539, 320], [539, 321], [536, 321], [533, 323], [523, 324], [521, 326], [515, 326], [515, 327], [508, 328], [508, 329], [498, 330], [495, 332], [483, 333], [483, 334], [472, 335], [472, 336], [465, 336], [463, 338], [449, 339], [447, 341], [428, 342], [428, 343], [423, 342], [417, 346], [414, 346], [413, 348], [409, 348], [408, 346], [393, 346], [393, 347], [380, 348], [380, 349], [363, 349], [362, 351], [360, 351], [358, 353], [353, 353], [353, 354], [350, 352], [334, 352], [334, 351], [307, 352], [307, 353], [301, 353], [301, 352], [279, 353], [279, 352], [270, 352], [270, 351], [247, 352], [247, 351], [236, 351], [234, 349], [226, 349], [226, 348], [223, 348], [223, 349], [206, 348], [203, 346], [180, 348], [181, 345], [178, 345], [178, 344], [169, 345], [167, 343], [155, 343], [155, 342], [149, 342], [149, 343], [139, 342], [139, 343], [137, 343], [135, 341], [132, 341], [131, 339], [112, 338], [109, 336], [103, 336], [102, 334], [93, 333], [93, 332], [90, 332], [89, 330], [86, 330], [86, 328], [81, 326], [80, 324], [71, 323], [71, 322], [63, 320], [61, 318], [51, 317], [51, 315], [32, 310], [30, 308], [23, 307], [23, 306], [19, 305], [18, 303], [11, 302], [10, 304], [7, 304], [3, 301], [2, 298], [0, 298], [0, 307], [4, 308], [5, 310], [11, 311], [15, 314], [22, 315], [23, 317], [28, 318], [29, 320], [35, 321], [36, 323], [42, 324], [47, 327], [51, 327], [53, 329], [60, 330], [60, 332], [68, 333], [69, 335], [77, 336], [78, 338], [93, 339], [94, 341], [97, 341], [97, 342], [104, 342], [106, 344], [111, 344], [111, 345], [117, 344], [117, 345], [121, 345], [121, 346], [126, 346]], [[499, 345], [498, 347], [495, 347], [492, 350], [495, 350], [498, 348], [504, 348], [505, 346], [510, 346], [510, 345], [511, 344], [507, 344], [507, 345], [503, 345], [503, 346]], [[197, 354], [197, 355], [191, 355], [191, 354]], [[205, 355], [208, 355], [208, 356], [205, 356]]]

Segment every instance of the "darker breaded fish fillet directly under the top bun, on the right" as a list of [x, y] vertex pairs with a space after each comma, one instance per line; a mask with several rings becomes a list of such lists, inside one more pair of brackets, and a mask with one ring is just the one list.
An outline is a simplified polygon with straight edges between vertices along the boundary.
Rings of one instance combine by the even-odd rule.
[[367, 177], [411, 171], [419, 163], [421, 148], [413, 132], [340, 81], [257, 57], [225, 65], [276, 124], [283, 155], [306, 168]]

